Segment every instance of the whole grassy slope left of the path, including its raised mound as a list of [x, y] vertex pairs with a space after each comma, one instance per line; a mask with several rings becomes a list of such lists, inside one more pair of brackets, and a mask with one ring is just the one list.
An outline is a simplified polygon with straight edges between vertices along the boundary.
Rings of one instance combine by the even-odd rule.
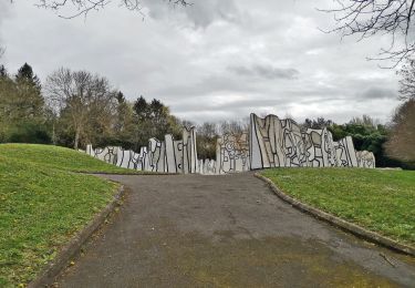
[[121, 172], [76, 151], [0, 145], [0, 287], [24, 286], [113, 198]]

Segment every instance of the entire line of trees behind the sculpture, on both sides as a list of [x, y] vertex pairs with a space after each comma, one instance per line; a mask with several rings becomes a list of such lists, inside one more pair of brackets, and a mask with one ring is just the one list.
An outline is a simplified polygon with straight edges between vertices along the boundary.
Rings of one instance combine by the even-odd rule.
[[[391, 123], [381, 124], [367, 115], [345, 124], [318, 117], [307, 119], [301, 127], [326, 126], [334, 140], [352, 136], [356, 150], [375, 154], [377, 166], [415, 167], [415, 63], [402, 75], [401, 100]], [[110, 81], [87, 71], [61, 68], [44, 85], [24, 63], [15, 74], [0, 65], [0, 143], [40, 143], [85, 148], [123, 146], [139, 151], [151, 137], [165, 134], [181, 137], [183, 126], [196, 126], [200, 158], [216, 158], [217, 138], [225, 133], [248, 131], [249, 119], [205, 122], [196, 125], [174, 116], [159, 100], [138, 96], [128, 101]]]

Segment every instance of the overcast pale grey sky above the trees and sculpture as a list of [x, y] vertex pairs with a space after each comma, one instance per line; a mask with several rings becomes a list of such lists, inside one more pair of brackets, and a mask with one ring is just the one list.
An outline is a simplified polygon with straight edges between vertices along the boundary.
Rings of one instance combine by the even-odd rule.
[[395, 71], [366, 61], [388, 39], [319, 30], [333, 28], [332, 16], [317, 10], [332, 0], [193, 0], [186, 9], [145, 0], [144, 17], [114, 0], [74, 20], [34, 2], [0, 2], [9, 72], [24, 62], [41, 80], [60, 66], [97, 72], [128, 99], [159, 99], [194, 122], [250, 112], [386, 122], [398, 103]]

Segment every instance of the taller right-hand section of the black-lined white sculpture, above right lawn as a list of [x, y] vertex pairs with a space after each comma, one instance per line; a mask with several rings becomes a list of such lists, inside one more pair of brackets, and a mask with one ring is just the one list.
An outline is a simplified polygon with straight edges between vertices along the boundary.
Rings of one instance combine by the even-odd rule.
[[[359, 155], [357, 155], [359, 154]], [[217, 157], [220, 158], [219, 153]], [[269, 167], [375, 167], [373, 153], [355, 152], [350, 136], [338, 142], [328, 128], [301, 132], [292, 120], [276, 115], [250, 116], [250, 168]]]

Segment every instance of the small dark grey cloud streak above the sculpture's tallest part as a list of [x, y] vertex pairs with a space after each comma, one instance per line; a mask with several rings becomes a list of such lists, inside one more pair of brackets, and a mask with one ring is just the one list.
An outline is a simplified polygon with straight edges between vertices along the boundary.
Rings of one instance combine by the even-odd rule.
[[229, 71], [241, 75], [241, 76], [259, 76], [263, 79], [295, 79], [299, 75], [299, 71], [292, 68], [276, 68], [272, 65], [260, 65], [255, 64], [252, 66], [229, 66]]

